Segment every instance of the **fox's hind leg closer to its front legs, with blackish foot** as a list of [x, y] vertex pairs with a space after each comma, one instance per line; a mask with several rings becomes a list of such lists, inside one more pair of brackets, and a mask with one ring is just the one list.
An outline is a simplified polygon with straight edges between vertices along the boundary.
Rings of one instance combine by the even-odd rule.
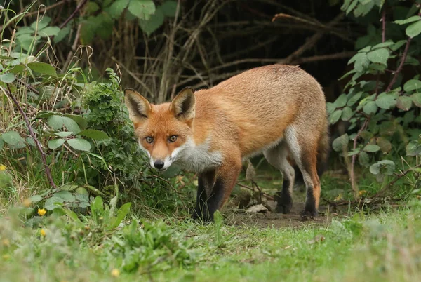
[[286, 142], [281, 142], [272, 149], [263, 152], [267, 161], [279, 169], [283, 175], [282, 190], [279, 194], [278, 203], [276, 205], [276, 213], [289, 213], [293, 207], [293, 187], [295, 171], [293, 166], [288, 162], [288, 147]]

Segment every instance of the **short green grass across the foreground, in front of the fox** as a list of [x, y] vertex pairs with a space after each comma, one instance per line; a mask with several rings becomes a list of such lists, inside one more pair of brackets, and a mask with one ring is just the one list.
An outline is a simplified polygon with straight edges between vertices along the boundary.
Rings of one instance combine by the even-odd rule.
[[[63, 216], [40, 220], [34, 229], [1, 220], [0, 281], [421, 278], [421, 213], [415, 208], [282, 229], [166, 219], [133, 229], [134, 235], [128, 234], [128, 222], [126, 229], [107, 231], [89, 220], [89, 229]], [[136, 245], [138, 234], [145, 234], [146, 241]], [[133, 262], [137, 265], [130, 270], [127, 265]], [[112, 276], [113, 269], [119, 269], [118, 278]]]

